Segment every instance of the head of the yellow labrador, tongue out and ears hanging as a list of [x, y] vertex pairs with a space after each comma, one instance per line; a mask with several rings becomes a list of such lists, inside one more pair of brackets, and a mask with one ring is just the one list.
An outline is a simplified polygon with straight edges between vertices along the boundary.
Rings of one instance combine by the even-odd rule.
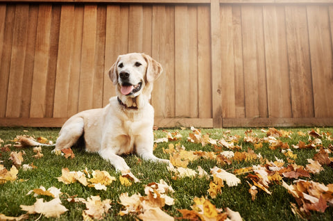
[[121, 55], [112, 65], [109, 76], [123, 96], [137, 97], [147, 83], [153, 82], [162, 74], [160, 63], [146, 54], [132, 53]]

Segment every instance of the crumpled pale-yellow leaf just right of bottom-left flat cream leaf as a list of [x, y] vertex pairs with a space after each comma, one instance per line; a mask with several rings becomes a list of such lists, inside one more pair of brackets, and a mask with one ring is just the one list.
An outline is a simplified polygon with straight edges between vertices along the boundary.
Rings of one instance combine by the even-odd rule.
[[108, 213], [111, 208], [111, 200], [105, 199], [101, 200], [99, 196], [90, 196], [87, 198], [87, 201], [84, 202], [87, 209], [83, 211], [83, 217], [85, 215], [89, 216], [89, 218], [93, 218], [96, 220], [102, 220], [105, 216], [105, 213]]

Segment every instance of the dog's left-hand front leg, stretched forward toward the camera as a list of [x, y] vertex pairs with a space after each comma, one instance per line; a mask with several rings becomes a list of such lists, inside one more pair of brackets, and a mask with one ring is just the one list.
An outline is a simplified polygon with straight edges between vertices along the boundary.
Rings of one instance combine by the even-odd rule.
[[116, 170], [121, 172], [122, 174], [130, 172], [130, 167], [128, 167], [125, 160], [121, 156], [114, 154], [114, 152], [112, 152], [112, 149], [101, 149], [99, 151], [99, 155], [106, 161], [109, 161], [116, 168]]

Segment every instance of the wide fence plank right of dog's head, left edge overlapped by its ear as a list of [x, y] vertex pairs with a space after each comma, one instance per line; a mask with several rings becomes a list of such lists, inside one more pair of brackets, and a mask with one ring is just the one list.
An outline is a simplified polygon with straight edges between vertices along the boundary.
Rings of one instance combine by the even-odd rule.
[[175, 116], [175, 8], [153, 6], [152, 56], [163, 67], [154, 83], [151, 103], [155, 117]]

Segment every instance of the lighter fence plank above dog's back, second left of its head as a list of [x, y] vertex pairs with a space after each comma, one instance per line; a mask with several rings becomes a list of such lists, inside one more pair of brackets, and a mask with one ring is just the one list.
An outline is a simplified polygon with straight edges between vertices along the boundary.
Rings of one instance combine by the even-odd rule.
[[78, 111], [92, 108], [94, 99], [94, 61], [96, 52], [97, 6], [85, 5]]

